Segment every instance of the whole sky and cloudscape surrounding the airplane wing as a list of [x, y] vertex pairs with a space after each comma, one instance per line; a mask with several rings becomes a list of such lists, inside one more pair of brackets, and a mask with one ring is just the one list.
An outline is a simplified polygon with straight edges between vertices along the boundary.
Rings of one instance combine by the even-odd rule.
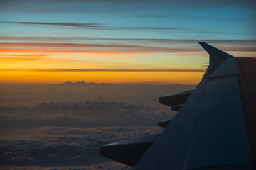
[[[110, 142], [160, 133], [194, 89], [198, 45], [256, 57], [250, 0], [0, 0], [0, 169], [131, 169]], [[93, 82], [93, 83], [92, 83]]]

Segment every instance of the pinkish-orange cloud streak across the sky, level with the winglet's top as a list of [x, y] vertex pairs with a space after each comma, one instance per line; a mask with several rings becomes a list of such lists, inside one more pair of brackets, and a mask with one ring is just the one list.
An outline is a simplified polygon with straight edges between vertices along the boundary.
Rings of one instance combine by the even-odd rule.
[[[54, 48], [53, 48], [54, 47]], [[247, 46], [225, 46], [220, 47], [225, 51], [242, 51], [255, 52], [256, 47]], [[127, 52], [127, 53], [169, 53], [169, 52], [198, 52], [202, 51], [199, 47], [194, 46], [151, 46], [151, 45], [129, 45], [129, 44], [78, 44], [78, 43], [0, 43], [0, 52], [11, 51], [35, 51], [41, 50], [50, 52]]]

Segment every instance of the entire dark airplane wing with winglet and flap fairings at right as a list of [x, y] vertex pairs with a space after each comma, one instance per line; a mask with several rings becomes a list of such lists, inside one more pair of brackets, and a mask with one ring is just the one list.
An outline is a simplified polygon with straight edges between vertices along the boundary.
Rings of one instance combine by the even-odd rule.
[[165, 130], [102, 145], [100, 154], [134, 170], [256, 169], [256, 59], [199, 44], [210, 64], [196, 89], [159, 98], [178, 111], [159, 123]]

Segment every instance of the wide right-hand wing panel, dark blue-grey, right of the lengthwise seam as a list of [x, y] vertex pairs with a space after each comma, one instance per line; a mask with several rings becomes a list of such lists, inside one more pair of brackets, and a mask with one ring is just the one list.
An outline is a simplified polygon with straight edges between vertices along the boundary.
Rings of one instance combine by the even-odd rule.
[[237, 78], [208, 81], [186, 169], [250, 162]]

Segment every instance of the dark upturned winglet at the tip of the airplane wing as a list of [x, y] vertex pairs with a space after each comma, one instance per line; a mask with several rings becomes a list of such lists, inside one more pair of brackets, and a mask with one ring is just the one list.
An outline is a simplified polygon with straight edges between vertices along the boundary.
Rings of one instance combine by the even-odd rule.
[[208, 75], [212, 74], [215, 69], [217, 69], [220, 64], [222, 64], [228, 57], [233, 57], [228, 53], [219, 50], [211, 45], [208, 45], [206, 42], [198, 42], [206, 52], [210, 55], [210, 62], [208, 67]]

